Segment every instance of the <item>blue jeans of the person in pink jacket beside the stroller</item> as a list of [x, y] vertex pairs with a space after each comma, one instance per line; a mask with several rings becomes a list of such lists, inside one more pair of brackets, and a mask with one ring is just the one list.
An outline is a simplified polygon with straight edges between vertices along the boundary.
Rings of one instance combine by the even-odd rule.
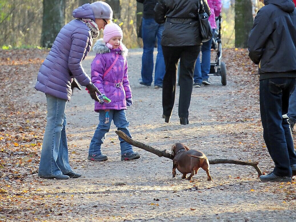
[[[215, 28], [213, 28], [213, 33], [215, 33]], [[200, 63], [200, 54], [198, 55], [195, 63], [193, 80], [195, 83], [202, 83], [205, 79], [209, 78], [208, 74], [210, 73], [211, 68], [211, 45], [212, 38], [202, 43], [201, 53], [202, 53], [202, 63]]]

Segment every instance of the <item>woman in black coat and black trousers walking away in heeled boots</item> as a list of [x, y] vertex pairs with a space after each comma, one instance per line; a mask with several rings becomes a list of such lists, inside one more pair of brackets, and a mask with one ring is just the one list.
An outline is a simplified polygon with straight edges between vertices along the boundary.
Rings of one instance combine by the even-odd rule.
[[[200, 3], [197, 0], [159, 0], [155, 21], [164, 23], [161, 46], [165, 59], [163, 78], [163, 118], [168, 123], [176, 96], [177, 65], [180, 59], [180, 96], [178, 114], [180, 124], [189, 124], [189, 105], [193, 87], [194, 66], [202, 39], [199, 35]], [[209, 11], [209, 7], [207, 5]], [[209, 13], [210, 14], [210, 13]]]

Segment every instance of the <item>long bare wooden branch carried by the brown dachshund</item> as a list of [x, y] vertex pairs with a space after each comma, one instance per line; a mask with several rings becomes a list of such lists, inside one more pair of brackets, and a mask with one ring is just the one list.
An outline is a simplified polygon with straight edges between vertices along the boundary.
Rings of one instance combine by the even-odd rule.
[[[159, 157], [166, 157], [166, 158], [173, 160], [173, 157], [171, 157], [170, 153], [166, 152], [166, 149], [164, 149], [163, 151], [160, 151], [160, 150], [155, 149], [149, 145], [135, 141], [120, 130], [115, 131], [115, 133], [118, 136], [120, 136], [124, 141], [133, 145], [134, 147], [139, 147], [139, 148], [144, 149], [150, 153], [154, 153]], [[229, 163], [229, 164], [252, 166], [257, 170], [259, 176], [263, 175], [260, 168], [258, 167], [258, 162], [246, 162], [246, 161], [241, 161], [241, 160], [229, 160], [229, 159], [214, 159], [214, 160], [209, 160], [209, 163], [210, 164]]]

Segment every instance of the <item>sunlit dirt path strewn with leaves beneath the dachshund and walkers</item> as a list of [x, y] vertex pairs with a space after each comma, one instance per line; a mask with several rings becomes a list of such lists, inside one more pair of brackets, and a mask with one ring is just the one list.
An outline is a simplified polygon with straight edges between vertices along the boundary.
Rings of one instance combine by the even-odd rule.
[[[128, 55], [134, 105], [127, 110], [133, 139], [170, 150], [182, 142], [209, 159], [260, 161], [270, 172], [273, 162], [262, 138], [258, 80], [244, 70], [239, 58], [225, 58], [228, 83], [213, 76], [211, 86], [194, 88], [189, 125], [180, 125], [176, 102], [171, 123], [162, 119], [162, 89], [139, 85], [142, 49]], [[89, 67], [91, 53], [83, 67]], [[251, 77], [250, 77], [251, 76]], [[32, 81], [33, 86], [35, 81]], [[178, 88], [178, 87], [177, 87]], [[45, 96], [32, 89], [27, 97], [45, 107]], [[178, 89], [177, 97], [178, 101]], [[192, 181], [172, 179], [172, 161], [134, 147], [135, 161], [120, 161], [115, 126], [107, 134], [102, 152], [106, 162], [86, 159], [98, 124], [98, 114], [86, 91], [75, 90], [67, 104], [70, 164], [83, 176], [66, 181], [30, 181], [39, 205], [35, 214], [15, 215], [11, 221], [293, 221], [296, 219], [295, 183], [262, 183], [250, 166], [211, 165], [213, 181], [202, 169]], [[35, 180], [34, 180], [35, 179]], [[30, 203], [20, 203], [23, 207]]]

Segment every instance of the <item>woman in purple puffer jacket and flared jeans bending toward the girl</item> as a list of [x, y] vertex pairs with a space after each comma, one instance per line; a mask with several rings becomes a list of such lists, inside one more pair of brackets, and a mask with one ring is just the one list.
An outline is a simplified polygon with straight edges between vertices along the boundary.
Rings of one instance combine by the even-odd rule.
[[69, 165], [65, 131], [66, 103], [72, 94], [71, 84], [79, 87], [74, 78], [89, 89], [94, 100], [102, 100], [102, 96], [96, 94], [99, 90], [84, 72], [81, 61], [89, 53], [93, 38], [112, 19], [112, 14], [111, 7], [103, 1], [84, 4], [75, 9], [75, 19], [60, 30], [40, 67], [35, 89], [45, 93], [47, 102], [47, 123], [38, 171], [42, 178], [68, 179], [81, 176], [74, 173]]

